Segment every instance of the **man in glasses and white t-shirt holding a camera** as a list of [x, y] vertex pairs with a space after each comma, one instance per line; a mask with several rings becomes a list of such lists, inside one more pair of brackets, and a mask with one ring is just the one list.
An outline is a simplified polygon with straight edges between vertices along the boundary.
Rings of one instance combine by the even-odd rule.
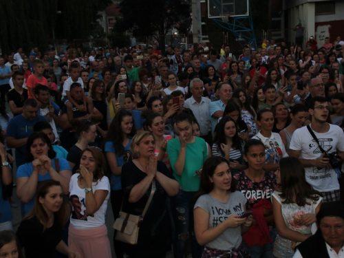
[[[321, 80], [316, 82], [319, 82], [319, 85], [312, 84], [312, 87], [321, 87]], [[314, 96], [310, 100], [308, 112], [312, 116], [310, 127], [301, 127], [294, 131], [290, 142], [290, 155], [301, 160], [305, 167], [305, 179], [323, 195], [323, 202], [338, 201], [338, 175], [341, 173], [341, 161], [344, 158], [343, 130], [326, 122], [330, 106], [325, 97]]]

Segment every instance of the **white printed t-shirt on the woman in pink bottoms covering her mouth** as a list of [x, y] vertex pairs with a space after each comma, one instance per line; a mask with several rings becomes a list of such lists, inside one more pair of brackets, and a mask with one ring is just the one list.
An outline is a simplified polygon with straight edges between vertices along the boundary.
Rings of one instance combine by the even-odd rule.
[[[92, 216], [85, 216], [86, 211], [86, 193], [85, 189], [80, 189], [78, 186], [78, 175], [79, 173], [76, 173], [72, 175], [72, 178], [69, 182], [69, 198], [71, 198], [73, 211], [70, 218], [70, 224], [78, 229], [85, 229], [85, 228], [98, 228], [99, 226], [103, 226], [105, 224], [105, 213], [107, 211], [107, 202], [109, 201], [110, 197], [110, 183], [109, 179], [106, 176], [103, 176], [101, 180], [98, 180], [97, 182], [92, 183], [92, 191], [95, 193], [97, 190], [106, 190], [108, 191], [107, 197], [105, 198], [103, 204], [100, 206], [98, 211], [94, 213]], [[78, 200], [76, 200], [76, 197], [78, 197]], [[80, 208], [80, 213], [83, 215], [81, 219], [76, 219], [76, 213], [74, 211], [75, 203], [78, 204], [78, 208]]]

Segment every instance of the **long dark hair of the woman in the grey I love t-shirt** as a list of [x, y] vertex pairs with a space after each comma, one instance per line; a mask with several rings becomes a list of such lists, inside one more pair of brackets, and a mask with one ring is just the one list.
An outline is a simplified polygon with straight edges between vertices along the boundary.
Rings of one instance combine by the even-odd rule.
[[[203, 169], [201, 173], [201, 182], [200, 182], [200, 189], [197, 191], [195, 195], [195, 201], [201, 196], [210, 193], [214, 189], [214, 184], [211, 182], [210, 178], [214, 175], [215, 169], [219, 164], [226, 163], [229, 167], [229, 162], [225, 158], [222, 157], [211, 157], [206, 160], [203, 164]], [[237, 182], [235, 178], [232, 177], [230, 181], [230, 189], [231, 193], [235, 192], [237, 189]]]

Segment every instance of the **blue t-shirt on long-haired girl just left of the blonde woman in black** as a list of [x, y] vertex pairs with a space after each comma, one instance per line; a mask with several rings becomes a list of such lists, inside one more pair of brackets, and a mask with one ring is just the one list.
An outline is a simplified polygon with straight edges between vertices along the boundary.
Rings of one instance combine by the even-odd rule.
[[[129, 143], [125, 147], [124, 155], [118, 155], [119, 153], [118, 151], [116, 151], [114, 147], [114, 142], [105, 142], [105, 153], [115, 153], [117, 166], [123, 166], [125, 163], [131, 160], [130, 142], [131, 139], [129, 139]], [[122, 189], [122, 184], [120, 184], [120, 175], [114, 175], [114, 173], [111, 173], [111, 191], [116, 191], [120, 189]]]

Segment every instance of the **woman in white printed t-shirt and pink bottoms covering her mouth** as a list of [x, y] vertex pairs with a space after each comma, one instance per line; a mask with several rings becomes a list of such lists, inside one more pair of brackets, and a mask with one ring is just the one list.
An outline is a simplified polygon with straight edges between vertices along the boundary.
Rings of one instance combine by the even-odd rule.
[[105, 158], [102, 151], [96, 147], [87, 147], [81, 153], [80, 170], [70, 180], [69, 199], [73, 211], [68, 246], [77, 250], [80, 258], [111, 258], [105, 225], [110, 183], [104, 171]]

